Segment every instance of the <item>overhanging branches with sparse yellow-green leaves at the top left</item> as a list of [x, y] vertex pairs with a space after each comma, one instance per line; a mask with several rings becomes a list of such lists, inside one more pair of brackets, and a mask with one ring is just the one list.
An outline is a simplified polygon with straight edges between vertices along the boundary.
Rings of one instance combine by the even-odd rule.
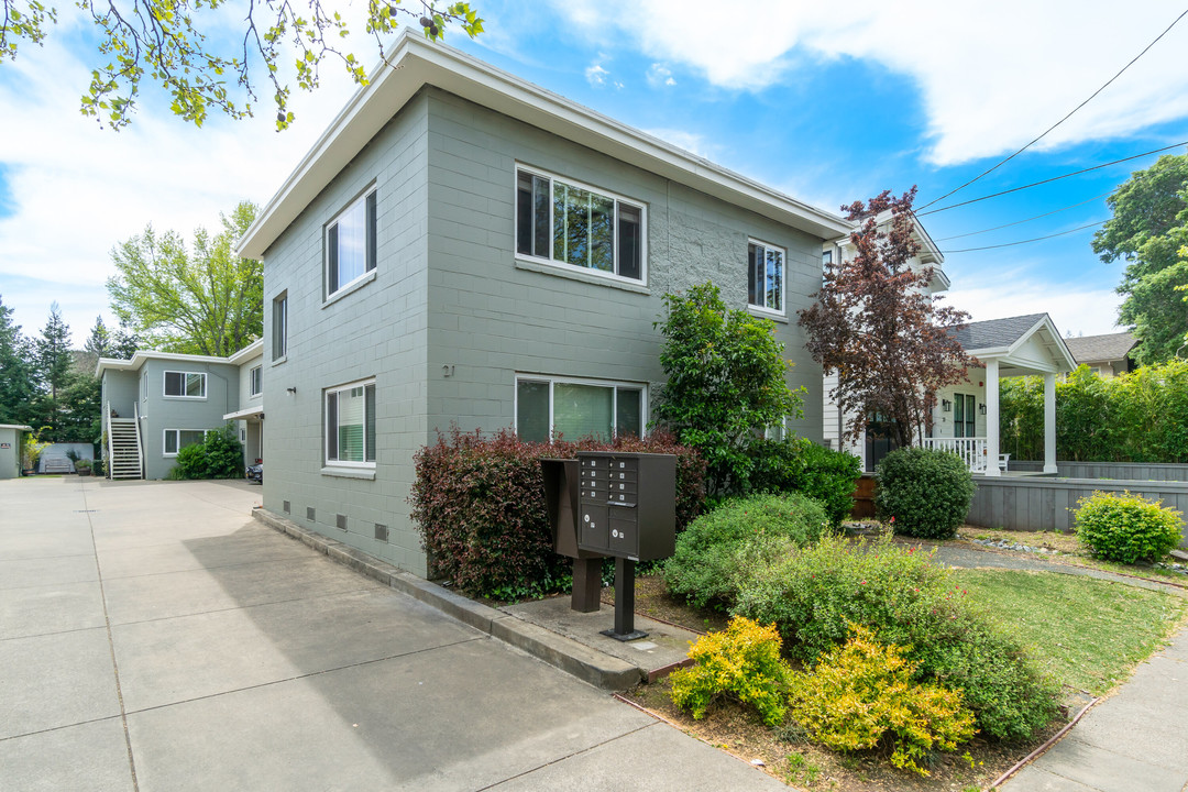
[[[19, 57], [21, 45], [42, 45], [59, 20], [58, 8], [40, 0], [0, 2], [0, 63]], [[367, 84], [362, 63], [369, 58], [360, 59], [342, 46], [356, 25], [375, 39], [385, 59], [384, 38], [397, 30], [402, 17], [430, 39], [441, 39], [449, 26], [470, 38], [482, 32], [482, 19], [468, 2], [440, 8], [431, 0], [407, 7], [402, 0], [367, 0], [366, 15], [348, 21], [322, 0], [248, 0], [232, 38], [225, 30], [227, 17], [235, 12], [225, 0], [71, 5], [99, 37], [82, 112], [113, 129], [131, 122], [146, 80], [165, 91], [170, 110], [195, 126], [201, 127], [210, 112], [233, 119], [254, 115], [271, 99], [277, 128], [284, 129], [295, 119], [289, 109], [291, 83], [314, 90], [326, 61], [337, 62], [355, 83]]]

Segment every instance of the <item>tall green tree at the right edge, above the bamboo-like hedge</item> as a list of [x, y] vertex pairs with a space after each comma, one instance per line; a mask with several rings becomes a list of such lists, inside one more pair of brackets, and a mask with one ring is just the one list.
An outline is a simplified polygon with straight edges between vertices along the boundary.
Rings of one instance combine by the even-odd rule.
[[1176, 356], [1188, 334], [1188, 154], [1167, 154], [1106, 198], [1113, 217], [1093, 236], [1102, 261], [1126, 261], [1118, 293], [1121, 323], [1140, 341], [1140, 365]]

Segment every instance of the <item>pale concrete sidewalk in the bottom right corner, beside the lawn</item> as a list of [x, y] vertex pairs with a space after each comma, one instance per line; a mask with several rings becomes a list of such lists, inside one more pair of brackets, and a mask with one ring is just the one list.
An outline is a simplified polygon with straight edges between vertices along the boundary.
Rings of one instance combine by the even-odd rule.
[[1003, 792], [1188, 790], [1188, 629]]

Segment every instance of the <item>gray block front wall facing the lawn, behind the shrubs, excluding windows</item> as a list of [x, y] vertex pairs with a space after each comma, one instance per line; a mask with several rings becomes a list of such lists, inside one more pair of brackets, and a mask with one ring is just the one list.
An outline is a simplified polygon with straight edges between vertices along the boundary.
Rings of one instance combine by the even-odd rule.
[[[647, 279], [626, 290], [518, 262], [517, 163], [642, 202]], [[429, 417], [446, 430], [513, 424], [517, 372], [650, 384], [663, 379], [652, 323], [666, 292], [712, 280], [733, 308], [747, 299], [747, 240], [783, 247], [788, 381], [805, 386], [800, 435], [821, 442], [821, 368], [796, 311], [821, 285], [821, 239], [625, 165], [444, 91], [429, 114]], [[642, 292], [642, 293], [640, 293]], [[450, 375], [444, 375], [444, 367]]]

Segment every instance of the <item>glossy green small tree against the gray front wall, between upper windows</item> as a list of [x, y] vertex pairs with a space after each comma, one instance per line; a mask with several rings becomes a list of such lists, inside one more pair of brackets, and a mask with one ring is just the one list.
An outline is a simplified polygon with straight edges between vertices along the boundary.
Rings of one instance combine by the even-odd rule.
[[745, 492], [753, 465], [751, 444], [785, 418], [800, 418], [802, 392], [788, 386], [790, 363], [776, 340], [776, 323], [728, 310], [718, 286], [665, 294], [668, 315], [656, 414], [682, 445], [707, 463], [710, 496]]

